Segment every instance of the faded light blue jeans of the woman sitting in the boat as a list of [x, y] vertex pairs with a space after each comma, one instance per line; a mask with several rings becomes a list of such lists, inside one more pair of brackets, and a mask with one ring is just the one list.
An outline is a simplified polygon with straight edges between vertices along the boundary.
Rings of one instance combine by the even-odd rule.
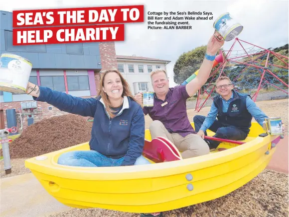
[[[67, 166], [84, 166], [84, 167], [106, 167], [120, 166], [124, 157], [118, 159], [109, 158], [95, 150], [77, 150], [61, 154], [58, 158], [58, 164]], [[149, 164], [150, 162], [143, 155], [137, 158], [135, 165]]]

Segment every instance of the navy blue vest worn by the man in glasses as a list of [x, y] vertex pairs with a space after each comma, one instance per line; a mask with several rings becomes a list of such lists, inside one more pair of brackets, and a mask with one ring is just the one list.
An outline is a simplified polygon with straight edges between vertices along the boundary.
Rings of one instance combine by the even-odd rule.
[[[218, 108], [217, 119], [224, 125], [233, 125], [246, 133], [250, 132], [252, 115], [246, 107], [246, 98], [248, 94], [239, 93], [235, 90], [233, 101], [229, 104], [228, 111], [223, 112], [223, 103], [220, 95], [214, 97], [214, 104]], [[251, 96], [250, 96], [251, 97]]]

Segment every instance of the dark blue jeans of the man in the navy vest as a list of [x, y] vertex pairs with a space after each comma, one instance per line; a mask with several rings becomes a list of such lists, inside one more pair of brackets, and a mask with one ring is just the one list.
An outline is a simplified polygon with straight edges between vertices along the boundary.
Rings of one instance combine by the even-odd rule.
[[[202, 124], [204, 123], [206, 117], [202, 115], [194, 116], [194, 124], [195, 124], [195, 131], [199, 132]], [[227, 139], [227, 140], [245, 140], [248, 136], [248, 133], [240, 130], [235, 126], [223, 126], [218, 120], [215, 120], [209, 130], [216, 133], [213, 137], [220, 138], [220, 139]], [[207, 136], [207, 132], [205, 132]], [[219, 141], [210, 140], [210, 144], [216, 148], [220, 143]]]

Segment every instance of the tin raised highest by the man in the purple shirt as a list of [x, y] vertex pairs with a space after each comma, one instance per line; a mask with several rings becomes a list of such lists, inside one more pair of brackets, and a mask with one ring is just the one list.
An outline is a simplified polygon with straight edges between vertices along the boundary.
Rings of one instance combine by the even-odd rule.
[[214, 22], [213, 27], [220, 33], [225, 41], [231, 41], [243, 30], [243, 26], [236, 22], [230, 16], [230, 13], [223, 13], [219, 16]]

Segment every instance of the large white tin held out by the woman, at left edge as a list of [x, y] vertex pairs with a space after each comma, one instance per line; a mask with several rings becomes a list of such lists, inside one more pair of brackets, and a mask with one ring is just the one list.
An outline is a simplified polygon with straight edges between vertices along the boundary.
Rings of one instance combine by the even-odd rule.
[[25, 93], [32, 63], [14, 54], [0, 57], [0, 90], [11, 93]]

